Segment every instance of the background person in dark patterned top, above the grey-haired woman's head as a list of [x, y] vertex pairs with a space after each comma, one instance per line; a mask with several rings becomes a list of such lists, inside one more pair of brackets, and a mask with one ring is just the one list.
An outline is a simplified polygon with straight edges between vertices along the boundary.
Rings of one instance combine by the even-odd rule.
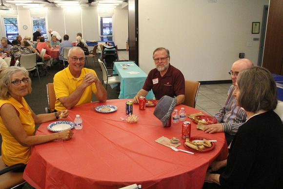
[[14, 65], [16, 61], [20, 61], [20, 55], [22, 54], [32, 54], [29, 48], [21, 46], [18, 40], [13, 40], [13, 47], [10, 50], [11, 65]]

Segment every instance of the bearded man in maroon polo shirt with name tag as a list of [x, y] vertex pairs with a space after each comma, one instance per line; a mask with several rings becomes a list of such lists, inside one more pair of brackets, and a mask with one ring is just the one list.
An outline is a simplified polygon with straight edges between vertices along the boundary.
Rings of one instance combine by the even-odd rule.
[[182, 72], [170, 64], [169, 50], [159, 47], [153, 51], [156, 68], [152, 69], [142, 87], [133, 98], [134, 104], [139, 104], [139, 97], [145, 97], [152, 89], [156, 100], [164, 95], [177, 97], [177, 105], [185, 99], [185, 79]]

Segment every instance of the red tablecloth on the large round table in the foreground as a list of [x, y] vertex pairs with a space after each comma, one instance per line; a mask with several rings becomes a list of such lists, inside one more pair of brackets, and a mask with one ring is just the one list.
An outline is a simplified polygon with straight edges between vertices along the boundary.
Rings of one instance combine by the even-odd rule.
[[[140, 116], [138, 123], [122, 121], [125, 117], [127, 99], [108, 100], [78, 105], [69, 112], [67, 120], [73, 121], [76, 114], [83, 120], [81, 130], [73, 129], [69, 141], [55, 141], [32, 147], [31, 159], [23, 178], [37, 189], [95, 188], [117, 189], [138, 184], [143, 189], [201, 189], [205, 172], [216, 158], [226, 159], [227, 145], [224, 133], [207, 134], [192, 124], [191, 136], [203, 136], [217, 140], [216, 147], [208, 152], [188, 154], [176, 152], [155, 140], [164, 136], [181, 139], [182, 122], [171, 127], [162, 127], [162, 122], [153, 115], [155, 107], [139, 110], [133, 105], [133, 113]], [[100, 113], [99, 105], [115, 105], [118, 110]], [[186, 113], [199, 110], [185, 108]], [[36, 135], [51, 134], [48, 124], [41, 124]]]

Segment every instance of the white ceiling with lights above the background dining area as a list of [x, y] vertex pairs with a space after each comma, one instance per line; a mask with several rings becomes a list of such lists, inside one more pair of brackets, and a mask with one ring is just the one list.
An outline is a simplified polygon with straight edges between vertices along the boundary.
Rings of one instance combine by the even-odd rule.
[[[111, 1], [111, 3], [115, 3], [115, 4], [119, 4], [119, 5], [115, 5], [116, 9], [127, 9], [128, 8], [128, 0], [8, 0], [9, 2], [6, 2], [7, 0], [2, 0], [3, 4], [7, 7], [15, 7], [18, 6], [19, 8], [23, 8], [24, 6], [31, 6], [32, 4], [39, 4], [39, 5], [43, 5], [42, 7], [45, 8], [51, 8], [51, 7], [61, 7], [62, 5], [59, 5], [59, 2], [56, 1], [61, 1], [61, 3], [67, 3], [68, 5], [70, 5], [72, 2], [77, 1], [79, 3], [78, 6], [81, 7], [98, 7], [98, 4], [101, 4], [100, 1]], [[15, 1], [15, 2], [11, 2], [11, 1]], [[17, 1], [17, 2], [16, 2]], [[32, 1], [32, 2], [19, 2], [19, 1]], [[115, 1], [120, 1], [120, 2], [115, 2]], [[111, 5], [110, 2], [106, 3], [108, 5]], [[16, 4], [23, 4], [23, 5], [16, 5]], [[103, 3], [105, 4], [105, 3]], [[41, 7], [38, 6], [38, 7]]]

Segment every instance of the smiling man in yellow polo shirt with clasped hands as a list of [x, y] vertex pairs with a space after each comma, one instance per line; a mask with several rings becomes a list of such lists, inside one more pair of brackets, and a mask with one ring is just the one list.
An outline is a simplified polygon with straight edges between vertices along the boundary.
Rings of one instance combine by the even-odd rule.
[[71, 48], [67, 58], [68, 67], [55, 74], [53, 80], [57, 111], [91, 102], [92, 92], [99, 101], [107, 100], [107, 92], [95, 71], [83, 67], [84, 59], [80, 47]]

